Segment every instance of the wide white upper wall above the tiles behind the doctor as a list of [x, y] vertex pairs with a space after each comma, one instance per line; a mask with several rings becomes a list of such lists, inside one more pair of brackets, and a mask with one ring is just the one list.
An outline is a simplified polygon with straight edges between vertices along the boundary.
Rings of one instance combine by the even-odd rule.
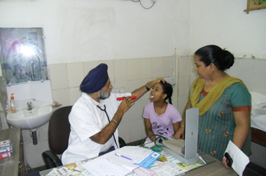
[[174, 0], [2, 0], [0, 18], [43, 27], [48, 64], [174, 55]]

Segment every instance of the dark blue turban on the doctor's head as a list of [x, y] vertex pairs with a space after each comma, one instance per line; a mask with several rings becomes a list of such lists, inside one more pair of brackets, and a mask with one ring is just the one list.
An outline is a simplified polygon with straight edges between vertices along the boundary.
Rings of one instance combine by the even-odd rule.
[[106, 64], [99, 64], [99, 66], [87, 73], [81, 82], [80, 91], [94, 93], [102, 89], [109, 79], [107, 68], [108, 66]]

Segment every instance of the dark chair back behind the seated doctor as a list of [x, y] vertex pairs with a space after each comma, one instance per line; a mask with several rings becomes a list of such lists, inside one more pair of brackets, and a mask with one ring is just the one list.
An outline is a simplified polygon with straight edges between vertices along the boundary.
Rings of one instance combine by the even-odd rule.
[[69, 113], [72, 105], [55, 110], [50, 117], [48, 126], [49, 147], [55, 154], [62, 154], [68, 147], [70, 124]]

